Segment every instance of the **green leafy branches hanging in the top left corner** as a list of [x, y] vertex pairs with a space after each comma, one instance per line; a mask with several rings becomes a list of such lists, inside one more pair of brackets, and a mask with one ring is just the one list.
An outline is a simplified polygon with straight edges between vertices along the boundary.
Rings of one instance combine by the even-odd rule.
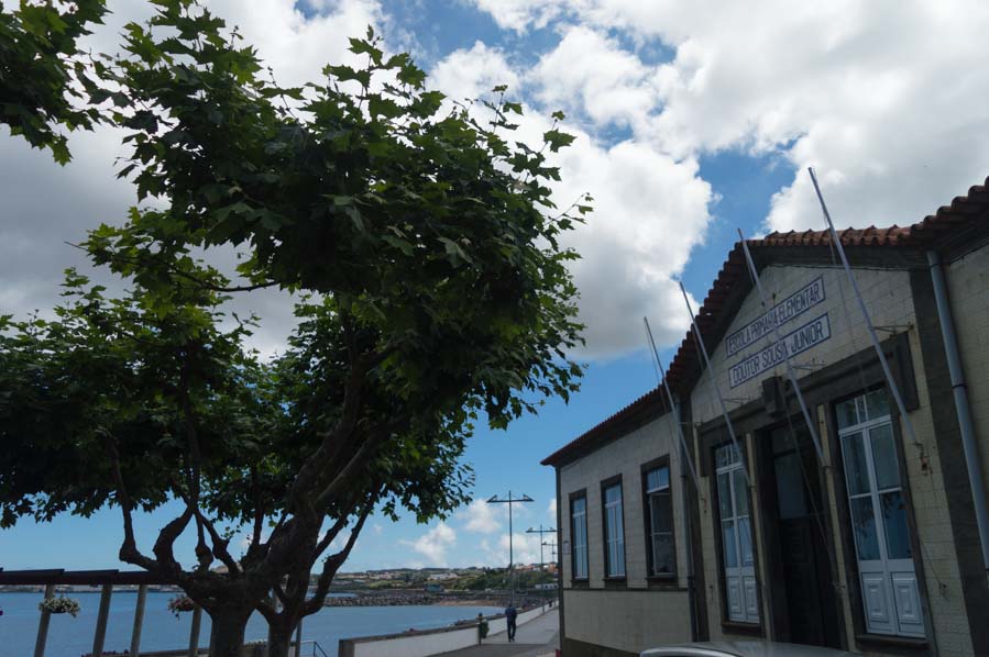
[[91, 130], [99, 112], [84, 90], [97, 92], [92, 76], [102, 64], [85, 60], [78, 40], [102, 22], [106, 0], [21, 0], [0, 7], [0, 123], [36, 148], [48, 148], [58, 164], [70, 159], [59, 126]]

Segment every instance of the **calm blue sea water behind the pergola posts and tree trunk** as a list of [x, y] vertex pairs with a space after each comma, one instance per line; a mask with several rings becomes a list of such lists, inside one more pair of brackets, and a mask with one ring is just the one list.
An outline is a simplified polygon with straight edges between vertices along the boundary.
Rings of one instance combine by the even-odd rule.
[[[190, 613], [176, 619], [168, 612], [168, 600], [175, 593], [147, 593], [144, 608], [142, 650], [186, 648], [189, 645]], [[99, 593], [70, 593], [83, 611], [75, 619], [68, 614], [53, 614], [48, 625], [46, 657], [79, 657], [92, 649], [92, 634], [99, 610]], [[37, 637], [42, 593], [0, 593], [0, 657], [31, 657]], [[131, 645], [136, 592], [114, 591], [110, 600], [105, 650], [123, 653]], [[494, 614], [503, 610], [493, 606], [334, 606], [325, 608], [303, 621], [303, 641], [317, 641], [331, 657], [337, 655], [337, 642], [354, 636], [372, 636], [403, 632], [415, 627], [442, 627], [454, 621], [474, 619], [477, 613]], [[264, 639], [267, 626], [259, 614], [248, 623], [246, 639]], [[202, 614], [199, 645], [209, 643], [209, 616]], [[309, 648], [311, 650], [311, 648]], [[304, 650], [304, 654], [309, 654]], [[318, 653], [317, 653], [318, 654]]]

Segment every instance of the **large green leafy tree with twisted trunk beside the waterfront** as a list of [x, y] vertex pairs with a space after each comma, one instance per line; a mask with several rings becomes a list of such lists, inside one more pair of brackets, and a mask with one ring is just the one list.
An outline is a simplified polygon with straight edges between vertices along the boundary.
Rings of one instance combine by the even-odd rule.
[[[547, 152], [572, 137], [554, 125], [540, 149], [513, 138], [521, 105], [504, 88], [480, 113], [447, 105], [408, 55], [386, 56], [370, 31], [351, 41], [363, 67], [328, 66], [319, 82], [283, 88], [219, 18], [188, 0], [155, 4], [149, 24], [128, 25], [125, 55], [105, 71], [120, 89], [112, 120], [130, 130], [120, 175], [155, 202], [85, 244], [135, 291], [90, 300], [101, 292], [70, 280], [85, 303], [55, 324], [20, 325], [4, 343], [4, 363], [21, 368], [0, 379], [12, 392], [0, 391], [0, 417], [17, 419], [0, 430], [4, 444], [26, 439], [50, 404], [70, 412], [31, 437], [48, 452], [10, 457], [0, 503], [8, 522], [119, 505], [120, 558], [206, 609], [211, 654], [238, 654], [257, 610], [270, 654], [285, 655], [373, 509], [442, 516], [466, 497], [471, 475], [458, 458], [475, 422], [504, 428], [575, 389], [567, 264], [576, 254], [559, 240], [590, 208], [554, 208], [559, 171]], [[190, 256], [231, 246], [244, 254], [241, 285]], [[286, 354], [263, 365], [240, 346], [248, 328], [221, 330], [219, 307], [270, 287], [307, 297]], [[51, 342], [61, 335], [67, 344]], [[158, 354], [152, 345], [163, 341], [164, 370], [143, 387], [130, 381], [157, 363], [142, 348]], [[77, 353], [103, 363], [111, 347], [119, 380], [58, 365]], [[72, 394], [47, 399], [63, 385]], [[166, 411], [155, 410], [161, 400]], [[139, 417], [130, 430], [118, 423], [129, 413]], [[84, 441], [92, 426], [106, 431]], [[85, 476], [61, 460], [63, 444], [86, 450]], [[132, 514], [167, 499], [185, 511], [146, 554]], [[251, 542], [238, 558], [224, 530], [241, 525]], [[197, 533], [191, 569], [173, 555], [187, 527]], [[348, 527], [343, 549], [325, 558]], [[226, 572], [210, 570], [217, 560]]]

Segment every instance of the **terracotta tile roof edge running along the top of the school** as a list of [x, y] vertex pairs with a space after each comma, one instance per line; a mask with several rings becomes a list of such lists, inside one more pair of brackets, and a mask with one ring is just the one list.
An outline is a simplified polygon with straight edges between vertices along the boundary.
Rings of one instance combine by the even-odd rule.
[[[909, 226], [894, 224], [883, 229], [877, 229], [876, 226], [845, 229], [837, 231], [838, 240], [842, 241], [844, 246], [920, 248], [932, 244], [946, 231], [950, 231], [960, 223], [981, 216], [987, 210], [989, 210], [989, 177], [986, 178], [982, 185], [970, 187], [966, 196], [955, 197], [949, 205], [942, 205], [934, 214], [928, 214], [915, 224]], [[752, 250], [794, 246], [821, 247], [829, 246], [831, 243], [831, 233], [828, 231], [774, 232], [758, 240], [748, 240], [749, 248]], [[728, 257], [714, 279], [704, 303], [697, 311], [697, 326], [705, 338], [707, 338], [707, 334], [715, 328], [721, 319], [724, 302], [728, 299], [732, 288], [738, 282], [739, 278], [747, 276], [748, 267], [745, 263], [741, 244], [736, 243], [732, 250], [728, 252]], [[673, 360], [667, 368], [667, 381], [669, 381], [670, 387], [674, 391], [680, 390], [684, 392], [681, 388], [690, 381], [694, 372], [700, 370], [697, 353], [692, 343], [691, 333], [688, 331], [686, 336], [684, 336], [680, 347], [677, 349], [677, 354], [673, 356]], [[542, 459], [542, 465], [554, 465], [569, 455], [583, 452], [602, 438], [607, 437], [608, 434], [612, 434], [626, 422], [648, 413], [650, 409], [666, 412], [668, 404], [664, 396], [660, 392], [659, 388], [650, 390], [547, 456]], [[656, 404], [659, 404], [658, 409]]]

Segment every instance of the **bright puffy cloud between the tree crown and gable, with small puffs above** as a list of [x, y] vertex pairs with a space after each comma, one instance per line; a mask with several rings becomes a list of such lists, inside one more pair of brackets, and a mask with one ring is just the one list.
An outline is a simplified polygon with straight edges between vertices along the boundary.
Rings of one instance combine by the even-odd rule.
[[[591, 53], [592, 60], [602, 55], [602, 49], [618, 47], [594, 34], [581, 33], [574, 38], [578, 37], [587, 42], [586, 48], [597, 48]], [[586, 49], [581, 44], [574, 47]], [[524, 88], [536, 86], [547, 99], [564, 99], [590, 83], [574, 75], [567, 78], [565, 89], [550, 91], [548, 81], [557, 79], [554, 71], [565, 68], [568, 57], [565, 53], [559, 57], [550, 53], [534, 73], [515, 74]], [[465, 90], [483, 91], [492, 81], [487, 79], [488, 71], [506, 67], [501, 53], [475, 44], [470, 51], [457, 51], [441, 60], [431, 79], [440, 90], [457, 97]], [[451, 68], [459, 75], [451, 75]], [[475, 74], [483, 83], [470, 81]], [[620, 80], [620, 76], [614, 79], [615, 83]], [[596, 93], [591, 89], [582, 98]], [[519, 120], [517, 136], [538, 147], [542, 134], [552, 125], [548, 111], [553, 108], [543, 111], [526, 104], [524, 109], [526, 114]], [[605, 104], [594, 109], [601, 116], [617, 116], [616, 111]], [[631, 114], [628, 122], [633, 122]], [[691, 248], [703, 238], [711, 219], [711, 186], [697, 177], [695, 159], [677, 160], [637, 138], [607, 144], [579, 123], [568, 122], [563, 127], [576, 141], [551, 157], [551, 164], [560, 166], [562, 177], [561, 182], [552, 185], [553, 198], [562, 209], [590, 192], [595, 209], [586, 224], [563, 238], [581, 255], [570, 265], [581, 294], [580, 320], [586, 325], [587, 344], [581, 356], [607, 358], [640, 348], [645, 339], [644, 315], [653, 321], [658, 341], [673, 341], [685, 331], [686, 318], [672, 277], [682, 270]]]

